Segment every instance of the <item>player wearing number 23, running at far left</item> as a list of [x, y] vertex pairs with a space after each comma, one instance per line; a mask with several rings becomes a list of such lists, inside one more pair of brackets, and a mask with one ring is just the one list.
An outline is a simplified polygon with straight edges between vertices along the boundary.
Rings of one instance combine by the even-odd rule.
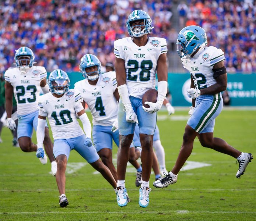
[[[4, 78], [6, 80], [6, 125], [9, 129], [16, 128], [15, 121], [11, 118], [13, 109], [13, 93], [17, 101], [18, 114], [18, 142], [24, 152], [37, 151], [36, 156], [42, 164], [47, 163], [47, 156], [43, 149], [32, 143], [31, 136], [33, 128], [38, 124], [38, 104], [40, 87], [43, 93], [49, 92], [46, 85], [46, 69], [41, 66], [34, 66], [34, 53], [28, 47], [20, 47], [16, 50], [14, 60], [16, 68], [8, 69]], [[45, 139], [43, 144], [51, 162], [51, 172], [56, 175], [57, 164], [53, 157], [53, 143], [49, 136], [49, 128], [45, 125]]]

